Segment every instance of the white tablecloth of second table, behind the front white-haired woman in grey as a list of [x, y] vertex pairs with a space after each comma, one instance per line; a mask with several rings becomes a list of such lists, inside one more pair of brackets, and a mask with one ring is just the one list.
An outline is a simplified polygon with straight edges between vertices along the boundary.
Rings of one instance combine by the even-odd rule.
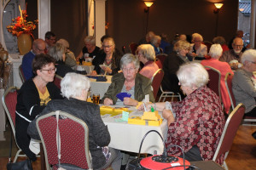
[[90, 78], [90, 94], [100, 94], [100, 99], [107, 92], [109, 85], [111, 84], [112, 76], [106, 76], [107, 82], [96, 82], [96, 79]]

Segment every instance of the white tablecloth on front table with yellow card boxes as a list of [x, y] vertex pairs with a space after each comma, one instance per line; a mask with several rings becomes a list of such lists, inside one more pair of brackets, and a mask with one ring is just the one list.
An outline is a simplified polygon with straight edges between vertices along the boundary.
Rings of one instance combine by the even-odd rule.
[[[130, 113], [130, 116], [142, 116], [143, 111], [134, 111]], [[103, 117], [103, 116], [102, 116]], [[108, 131], [111, 136], [111, 141], [108, 146], [118, 150], [125, 150], [138, 153], [143, 136], [148, 133], [149, 130], [156, 130], [161, 136], [166, 139], [167, 134], [167, 121], [164, 120], [160, 127], [143, 126], [128, 124], [127, 122], [115, 122], [113, 117], [102, 118], [103, 122], [108, 125]], [[164, 145], [160, 136], [157, 133], [148, 133], [148, 136], [144, 139], [141, 153], [154, 154], [154, 150], [157, 154], [162, 154]]]

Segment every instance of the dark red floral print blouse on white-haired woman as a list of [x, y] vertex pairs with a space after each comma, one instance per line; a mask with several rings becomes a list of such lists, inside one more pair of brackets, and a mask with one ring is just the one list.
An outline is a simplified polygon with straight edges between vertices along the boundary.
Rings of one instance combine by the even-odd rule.
[[[197, 145], [203, 160], [212, 160], [224, 128], [224, 113], [218, 96], [210, 88], [197, 88], [180, 102], [172, 103], [175, 122], [168, 127], [166, 148], [179, 145], [184, 152]], [[168, 149], [168, 154], [180, 156], [181, 150]], [[224, 156], [221, 156], [223, 162]]]

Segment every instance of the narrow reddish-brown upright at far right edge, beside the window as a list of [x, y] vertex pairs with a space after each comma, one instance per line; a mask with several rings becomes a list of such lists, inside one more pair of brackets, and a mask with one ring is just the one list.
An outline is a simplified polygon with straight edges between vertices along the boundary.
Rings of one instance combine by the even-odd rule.
[[250, 26], [250, 45], [255, 48], [255, 20], [256, 20], [256, 0], [251, 1], [251, 26]]

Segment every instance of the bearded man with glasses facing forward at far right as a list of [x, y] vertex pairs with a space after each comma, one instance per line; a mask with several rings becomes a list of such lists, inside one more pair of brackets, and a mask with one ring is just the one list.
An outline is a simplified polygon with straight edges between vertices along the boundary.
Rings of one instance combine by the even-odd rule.
[[222, 55], [222, 57], [219, 59], [220, 61], [225, 61], [227, 63], [230, 63], [231, 60], [238, 60], [238, 62], [241, 63], [241, 49], [243, 47], [243, 42], [241, 37], [236, 37], [232, 43], [233, 49], [230, 49], [228, 51], [225, 51]]

